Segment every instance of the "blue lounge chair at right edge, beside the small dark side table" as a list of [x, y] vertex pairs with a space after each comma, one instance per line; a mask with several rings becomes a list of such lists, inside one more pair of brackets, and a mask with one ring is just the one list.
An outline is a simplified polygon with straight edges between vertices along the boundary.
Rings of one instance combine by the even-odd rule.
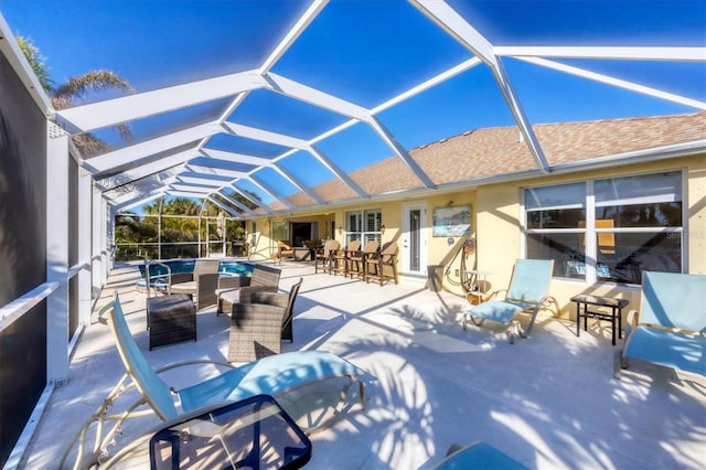
[[706, 276], [644, 271], [640, 311], [628, 313], [614, 376], [619, 378], [632, 360], [706, 375], [704, 306]]

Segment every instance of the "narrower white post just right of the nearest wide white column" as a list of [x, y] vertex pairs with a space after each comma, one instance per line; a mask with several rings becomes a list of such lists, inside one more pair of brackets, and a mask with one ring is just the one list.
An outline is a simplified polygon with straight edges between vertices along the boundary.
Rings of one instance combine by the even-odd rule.
[[90, 271], [93, 263], [92, 253], [92, 182], [90, 173], [83, 168], [78, 169], [78, 264], [83, 267], [78, 273], [78, 321], [87, 325], [90, 323], [90, 310], [93, 308], [93, 289]]

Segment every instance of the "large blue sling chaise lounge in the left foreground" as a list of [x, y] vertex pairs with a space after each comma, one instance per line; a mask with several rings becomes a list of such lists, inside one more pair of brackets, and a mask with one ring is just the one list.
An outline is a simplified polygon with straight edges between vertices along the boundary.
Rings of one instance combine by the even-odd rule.
[[[107, 448], [113, 442], [115, 435], [121, 431], [122, 424], [131, 417], [145, 416], [146, 414], [153, 413], [159, 419], [167, 421], [183, 413], [234, 403], [256, 395], [277, 397], [295, 388], [334, 377], [349, 377], [341, 394], [341, 402], [345, 400], [349, 387], [357, 383], [361, 407], [365, 408], [364, 384], [361, 380], [355, 378], [355, 376], [365, 374], [365, 371], [330, 352], [295, 351], [271, 355], [239, 366], [218, 361], [194, 360], [154, 371], [130, 333], [117, 292], [114, 301], [106, 306], [98, 317], [103, 318], [106, 311], [108, 312], [108, 324], [127, 373], [72, 440], [62, 457], [60, 468], [64, 468], [64, 462], [77, 442], [78, 449], [74, 468], [90, 468], [98, 464], [99, 459], [107, 457]], [[170, 388], [159, 376], [160, 373], [169, 370], [204, 363], [222, 365], [228, 370], [180, 391]], [[137, 389], [140, 397], [126, 410], [113, 415], [108, 414], [116, 399], [133, 388]], [[181, 410], [176, 407], [175, 397], [181, 403]], [[145, 406], [149, 408], [145, 408]], [[110, 421], [114, 421], [115, 425], [106, 430], [105, 425]], [[96, 434], [95, 444], [90, 449], [90, 455], [84, 458], [85, 445], [92, 429]]]

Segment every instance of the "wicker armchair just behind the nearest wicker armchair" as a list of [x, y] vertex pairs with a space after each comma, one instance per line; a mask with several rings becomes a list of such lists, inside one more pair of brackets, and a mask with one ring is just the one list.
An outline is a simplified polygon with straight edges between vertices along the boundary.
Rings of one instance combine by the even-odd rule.
[[216, 314], [229, 312], [233, 303], [249, 303], [255, 292], [277, 292], [281, 270], [265, 265], [255, 265], [250, 276], [220, 277]]

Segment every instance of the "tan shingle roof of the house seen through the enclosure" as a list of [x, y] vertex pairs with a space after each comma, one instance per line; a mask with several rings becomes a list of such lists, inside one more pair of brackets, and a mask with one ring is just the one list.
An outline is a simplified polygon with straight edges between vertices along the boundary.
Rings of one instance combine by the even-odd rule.
[[[542, 124], [533, 128], [547, 161], [556, 165], [706, 139], [706, 113]], [[438, 186], [478, 184], [489, 177], [536, 170], [514, 126], [463, 132], [409, 153]], [[351, 178], [371, 195], [422, 188], [411, 170], [396, 157], [352, 172]], [[339, 180], [318, 185], [314, 191], [329, 202], [356, 197]], [[296, 205], [313, 204], [301, 193], [289, 200]]]

